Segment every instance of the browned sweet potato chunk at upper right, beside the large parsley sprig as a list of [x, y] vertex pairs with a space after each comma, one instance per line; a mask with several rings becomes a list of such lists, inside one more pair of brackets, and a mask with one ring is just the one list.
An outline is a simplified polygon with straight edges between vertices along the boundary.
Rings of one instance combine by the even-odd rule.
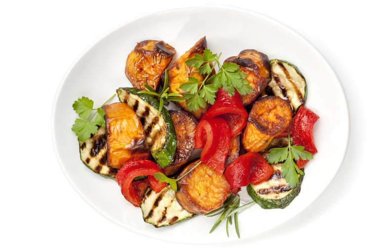
[[253, 92], [241, 95], [243, 106], [247, 106], [261, 94], [271, 80], [270, 62], [267, 55], [254, 49], [242, 50], [238, 56], [229, 57], [224, 63], [239, 65], [239, 71], [246, 74], [246, 80]]

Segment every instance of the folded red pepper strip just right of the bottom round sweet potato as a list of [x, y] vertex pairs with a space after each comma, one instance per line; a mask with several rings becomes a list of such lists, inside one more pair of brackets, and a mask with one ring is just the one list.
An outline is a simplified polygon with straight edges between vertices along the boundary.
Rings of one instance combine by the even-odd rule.
[[239, 156], [225, 171], [225, 177], [231, 189], [256, 185], [269, 179], [274, 173], [273, 167], [259, 153], [248, 152]]

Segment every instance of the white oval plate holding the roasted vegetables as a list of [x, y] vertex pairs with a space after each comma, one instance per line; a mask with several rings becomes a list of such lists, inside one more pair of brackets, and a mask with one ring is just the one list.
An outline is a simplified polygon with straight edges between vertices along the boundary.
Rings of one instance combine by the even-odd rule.
[[[232, 21], [225, 27], [217, 25], [217, 20], [228, 18]], [[77, 138], [71, 131], [77, 118], [72, 109], [75, 100], [86, 96], [99, 106], [116, 88], [131, 86], [124, 67], [137, 42], [164, 40], [175, 47], [175, 60], [203, 36], [208, 48], [214, 53], [222, 52], [221, 61], [243, 49], [256, 49], [269, 59], [295, 64], [308, 82], [306, 106], [320, 116], [314, 126], [318, 153], [305, 169], [300, 195], [283, 210], [263, 210], [255, 205], [240, 213], [241, 239], [260, 235], [301, 213], [334, 179], [345, 157], [349, 114], [342, 84], [304, 37], [266, 16], [228, 7], [182, 8], [139, 17], [104, 36], [77, 59], [58, 89], [52, 110], [54, 146], [67, 179], [91, 207], [133, 233], [188, 244], [239, 240], [233, 226], [227, 237], [225, 223], [209, 234], [216, 217], [198, 216], [164, 228], [145, 223], [141, 210], [123, 198], [114, 180], [100, 177], [83, 165]], [[251, 201], [244, 190], [240, 194], [243, 203]]]

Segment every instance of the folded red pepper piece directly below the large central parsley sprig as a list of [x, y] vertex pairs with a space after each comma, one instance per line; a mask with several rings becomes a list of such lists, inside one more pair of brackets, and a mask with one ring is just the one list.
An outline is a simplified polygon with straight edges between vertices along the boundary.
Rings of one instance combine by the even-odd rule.
[[231, 138], [241, 132], [246, 126], [247, 111], [243, 107], [240, 95], [235, 90], [233, 96], [229, 96], [227, 91], [220, 88], [217, 92], [215, 103], [202, 116], [201, 120], [220, 117], [226, 120], [231, 129]]

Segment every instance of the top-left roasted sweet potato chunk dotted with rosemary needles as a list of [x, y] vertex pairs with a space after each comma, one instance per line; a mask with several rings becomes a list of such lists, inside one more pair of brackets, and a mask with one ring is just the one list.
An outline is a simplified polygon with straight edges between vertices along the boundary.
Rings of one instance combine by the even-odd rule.
[[157, 91], [161, 74], [174, 54], [175, 49], [164, 41], [141, 41], [127, 57], [126, 76], [135, 88], [147, 90], [144, 84], [148, 84]]

